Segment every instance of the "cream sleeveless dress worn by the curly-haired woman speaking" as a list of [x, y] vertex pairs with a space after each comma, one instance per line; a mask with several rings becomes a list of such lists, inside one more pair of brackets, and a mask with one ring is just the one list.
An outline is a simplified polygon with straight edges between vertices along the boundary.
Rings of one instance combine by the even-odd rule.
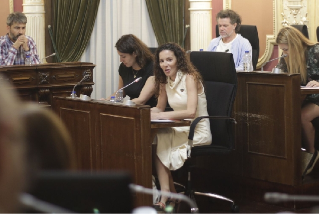
[[[186, 74], [178, 72], [175, 82], [168, 77], [166, 92], [170, 106], [174, 111], [187, 109]], [[202, 84], [203, 87], [203, 84]], [[204, 92], [198, 94], [197, 111], [195, 118], [207, 116], [207, 101]], [[194, 119], [189, 119], [193, 121]], [[190, 126], [161, 128], [156, 134], [156, 154], [162, 163], [170, 170], [183, 166], [187, 159], [186, 148]], [[156, 142], [157, 141], [157, 142]], [[195, 128], [193, 146], [209, 145], [212, 143], [209, 119], [202, 119]]]

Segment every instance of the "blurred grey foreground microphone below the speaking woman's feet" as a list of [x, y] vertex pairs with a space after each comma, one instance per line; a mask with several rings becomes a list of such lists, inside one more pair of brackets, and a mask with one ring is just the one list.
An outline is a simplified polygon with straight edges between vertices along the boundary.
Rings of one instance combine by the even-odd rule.
[[[129, 188], [134, 192], [141, 192], [141, 193], [153, 195], [153, 189], [145, 188], [145, 187], [140, 186], [140, 185], [130, 183]], [[160, 191], [160, 190], [158, 190], [158, 194], [161, 196], [173, 197], [175, 199], [184, 200], [190, 205], [192, 213], [198, 213], [198, 207], [197, 207], [196, 203], [192, 199], [190, 199], [189, 197], [185, 196], [184, 194], [178, 194], [178, 193], [174, 193], [174, 192], [165, 192], [165, 191]]]

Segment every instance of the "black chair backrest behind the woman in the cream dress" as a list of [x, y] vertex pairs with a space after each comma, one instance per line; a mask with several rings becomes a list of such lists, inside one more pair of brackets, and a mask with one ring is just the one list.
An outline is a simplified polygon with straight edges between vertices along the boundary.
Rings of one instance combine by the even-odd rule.
[[[210, 116], [232, 116], [237, 92], [237, 75], [233, 54], [224, 52], [191, 52], [190, 60], [202, 74], [207, 110]], [[210, 120], [212, 144], [233, 148], [233, 125], [229, 120]]]

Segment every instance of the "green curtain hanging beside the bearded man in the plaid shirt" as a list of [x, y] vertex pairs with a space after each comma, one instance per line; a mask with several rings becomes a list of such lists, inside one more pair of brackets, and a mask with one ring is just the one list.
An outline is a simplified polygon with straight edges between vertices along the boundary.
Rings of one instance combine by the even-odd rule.
[[81, 58], [92, 34], [99, 3], [100, 0], [54, 0], [53, 41], [61, 62]]

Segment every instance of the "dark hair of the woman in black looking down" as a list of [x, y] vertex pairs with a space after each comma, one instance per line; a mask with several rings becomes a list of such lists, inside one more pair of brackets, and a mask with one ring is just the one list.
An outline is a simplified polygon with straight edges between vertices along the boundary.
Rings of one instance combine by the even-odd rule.
[[150, 52], [149, 48], [135, 35], [123, 35], [115, 44], [117, 51], [123, 54], [136, 54], [136, 63], [140, 68], [154, 60], [154, 55]]

